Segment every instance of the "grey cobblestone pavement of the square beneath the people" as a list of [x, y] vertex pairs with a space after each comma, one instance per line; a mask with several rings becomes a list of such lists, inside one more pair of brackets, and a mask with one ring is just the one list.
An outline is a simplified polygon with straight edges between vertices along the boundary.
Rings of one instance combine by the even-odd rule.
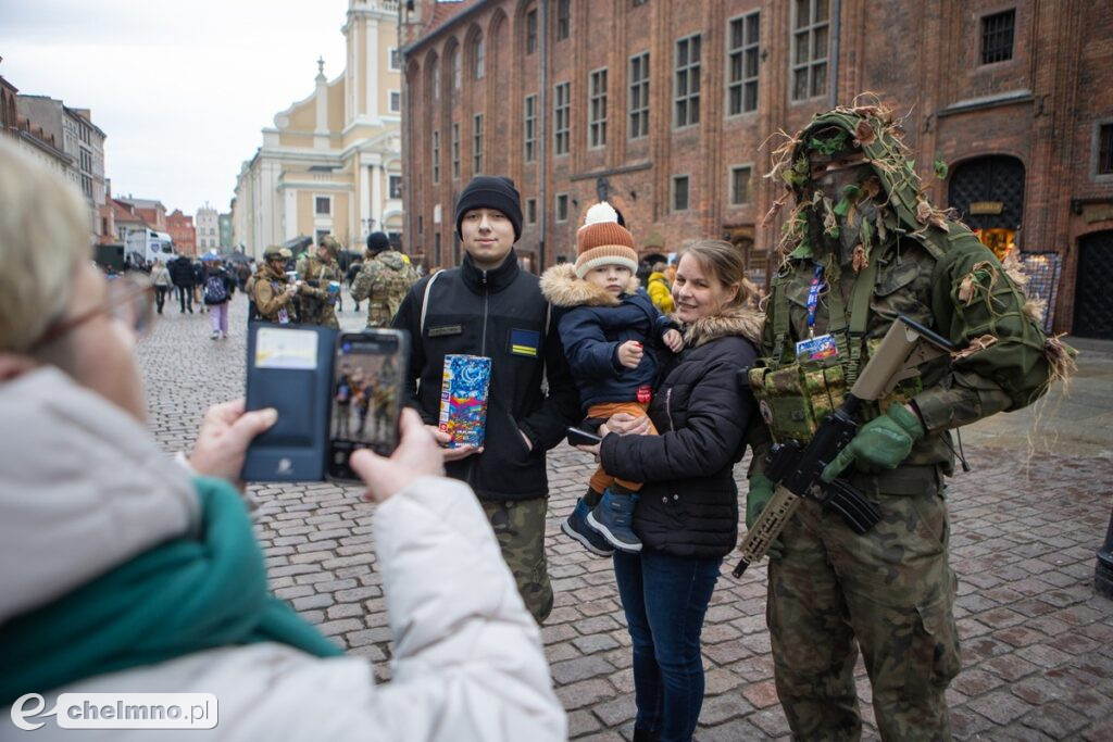
[[[232, 339], [210, 340], [207, 317], [181, 316], [168, 301], [140, 344], [150, 425], [167, 449], [187, 449], [205, 407], [242, 393], [244, 304], [237, 295]], [[346, 327], [363, 324], [351, 310], [342, 317]], [[1107, 374], [1113, 356], [1092, 363], [1105, 364]], [[948, 692], [958, 739], [1113, 739], [1113, 601], [1093, 591], [1094, 554], [1113, 504], [1110, 441], [1101, 447], [1105, 455], [1096, 457], [966, 448], [974, 471], [955, 477], [948, 494], [964, 660]], [[610, 562], [589, 557], [559, 531], [592, 468], [567, 446], [549, 459], [556, 607], [542, 634], [572, 736], [622, 740], [631, 735], [633, 681]], [[392, 644], [371, 536], [374, 508], [357, 501], [356, 489], [328, 484], [253, 492], [264, 502], [257, 533], [275, 592], [351, 654], [375, 661], [386, 680]], [[741, 581], [723, 572], [703, 630], [707, 700], [696, 736], [786, 738], [764, 570]], [[859, 695], [865, 736], [876, 739], [860, 664]]]

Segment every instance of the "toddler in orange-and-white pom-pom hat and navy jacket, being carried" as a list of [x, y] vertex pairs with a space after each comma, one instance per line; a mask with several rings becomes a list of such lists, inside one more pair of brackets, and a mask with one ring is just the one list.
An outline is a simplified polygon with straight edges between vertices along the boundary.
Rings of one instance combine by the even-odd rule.
[[[646, 417], [658, 355], [683, 347], [680, 332], [639, 286], [637, 268], [633, 235], [603, 201], [588, 209], [577, 233], [575, 263], [541, 277], [541, 291], [564, 313], [560, 337], [588, 417]], [[652, 423], [649, 434], [657, 434]], [[599, 467], [562, 531], [601, 556], [615, 548], [640, 552], [631, 527], [640, 489]]]

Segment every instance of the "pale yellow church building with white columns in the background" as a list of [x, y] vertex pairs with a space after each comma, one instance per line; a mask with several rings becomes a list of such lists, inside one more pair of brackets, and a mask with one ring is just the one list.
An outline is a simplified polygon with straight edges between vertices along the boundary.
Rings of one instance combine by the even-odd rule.
[[313, 93], [263, 129], [236, 179], [234, 240], [248, 255], [326, 234], [351, 250], [380, 230], [401, 244], [397, 12], [393, 0], [348, 0], [346, 69], [328, 81], [317, 60]]

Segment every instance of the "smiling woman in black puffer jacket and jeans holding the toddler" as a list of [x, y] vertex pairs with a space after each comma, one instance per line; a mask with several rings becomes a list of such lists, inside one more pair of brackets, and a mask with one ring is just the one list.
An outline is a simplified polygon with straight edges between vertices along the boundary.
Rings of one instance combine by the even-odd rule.
[[641, 482], [641, 551], [614, 553], [633, 644], [634, 740], [689, 740], [703, 703], [700, 632], [722, 557], [738, 540], [733, 466], [757, 406], [739, 383], [761, 332], [741, 256], [721, 241], [681, 253], [672, 297], [683, 349], [662, 366], [646, 418], [614, 415], [595, 451], [614, 477]]

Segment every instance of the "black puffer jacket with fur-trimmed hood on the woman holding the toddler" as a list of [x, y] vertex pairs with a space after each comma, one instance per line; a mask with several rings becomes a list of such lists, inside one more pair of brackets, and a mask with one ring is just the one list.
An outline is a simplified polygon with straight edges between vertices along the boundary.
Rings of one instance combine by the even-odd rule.
[[644, 483], [633, 530], [646, 548], [716, 557], [735, 547], [733, 466], [757, 415], [739, 372], [754, 364], [760, 332], [761, 315], [749, 309], [693, 323], [649, 406], [659, 435], [603, 438], [600, 462], [607, 473]]

